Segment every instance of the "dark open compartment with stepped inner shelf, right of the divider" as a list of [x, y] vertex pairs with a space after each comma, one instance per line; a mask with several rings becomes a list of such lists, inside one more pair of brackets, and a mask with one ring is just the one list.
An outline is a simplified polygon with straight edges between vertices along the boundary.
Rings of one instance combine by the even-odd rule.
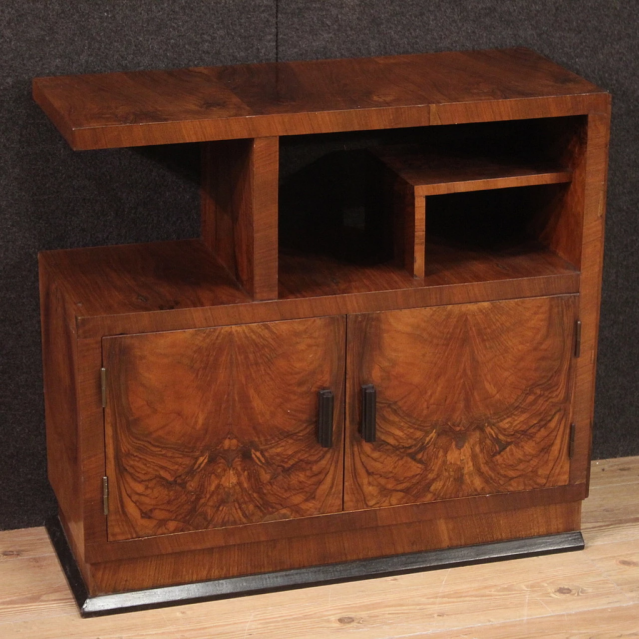
[[580, 116], [281, 138], [280, 296], [580, 268]]

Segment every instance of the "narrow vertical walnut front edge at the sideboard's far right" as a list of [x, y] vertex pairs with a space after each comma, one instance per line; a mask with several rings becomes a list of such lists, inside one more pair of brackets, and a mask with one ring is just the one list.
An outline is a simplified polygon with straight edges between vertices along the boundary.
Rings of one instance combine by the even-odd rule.
[[607, 111], [588, 116], [580, 280], [581, 353], [577, 360], [574, 402], [576, 431], [570, 473], [573, 483], [587, 481], [590, 472], [609, 137], [610, 96]]

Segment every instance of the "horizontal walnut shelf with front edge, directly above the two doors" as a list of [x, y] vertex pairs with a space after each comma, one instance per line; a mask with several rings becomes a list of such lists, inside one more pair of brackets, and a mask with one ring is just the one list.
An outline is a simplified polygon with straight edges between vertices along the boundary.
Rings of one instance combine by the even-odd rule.
[[73, 300], [81, 339], [579, 290], [579, 272], [539, 243], [497, 252], [431, 243], [427, 250], [421, 281], [393, 263], [281, 253], [280, 299], [260, 304], [199, 240], [45, 251], [41, 261]]

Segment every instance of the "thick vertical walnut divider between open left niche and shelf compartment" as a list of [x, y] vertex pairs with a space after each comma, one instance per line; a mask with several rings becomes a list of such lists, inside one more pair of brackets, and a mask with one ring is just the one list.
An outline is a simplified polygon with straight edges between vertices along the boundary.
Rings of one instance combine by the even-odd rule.
[[202, 146], [202, 239], [255, 300], [276, 299], [279, 137]]

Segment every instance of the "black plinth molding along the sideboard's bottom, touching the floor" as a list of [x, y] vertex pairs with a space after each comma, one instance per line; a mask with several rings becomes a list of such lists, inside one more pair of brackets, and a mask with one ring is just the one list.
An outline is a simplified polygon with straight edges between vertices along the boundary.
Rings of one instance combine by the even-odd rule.
[[396, 574], [417, 573], [420, 571], [455, 566], [485, 564], [505, 559], [537, 557], [571, 550], [583, 550], [583, 537], [580, 532], [564, 532], [543, 537], [527, 537], [512, 541], [496, 541], [491, 544], [477, 544], [445, 550], [429, 550], [421, 553], [394, 555], [374, 559], [360, 559], [342, 564], [312, 566], [277, 573], [250, 574], [244, 577], [230, 577], [212, 581], [199, 581], [180, 586], [164, 586], [148, 590], [134, 590], [112, 595], [89, 597], [88, 590], [80, 573], [65, 532], [57, 517], [47, 521], [47, 532], [58, 553], [73, 596], [80, 608], [82, 617], [98, 617], [119, 612], [148, 610], [164, 606], [179, 606], [198, 601], [227, 599], [244, 595], [290, 590], [309, 586], [355, 581], [374, 577], [387, 577]]

